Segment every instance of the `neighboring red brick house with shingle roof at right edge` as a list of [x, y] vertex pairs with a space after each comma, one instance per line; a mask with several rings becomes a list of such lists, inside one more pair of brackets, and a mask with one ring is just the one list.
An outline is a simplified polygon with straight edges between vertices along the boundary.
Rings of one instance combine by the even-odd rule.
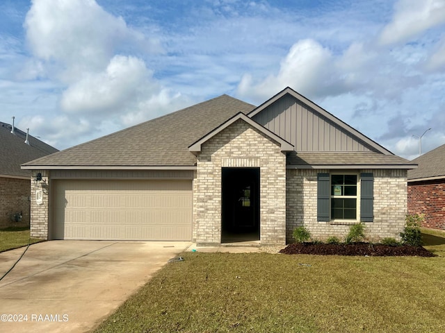
[[423, 227], [445, 230], [445, 144], [412, 160], [408, 171], [408, 213], [424, 214]]

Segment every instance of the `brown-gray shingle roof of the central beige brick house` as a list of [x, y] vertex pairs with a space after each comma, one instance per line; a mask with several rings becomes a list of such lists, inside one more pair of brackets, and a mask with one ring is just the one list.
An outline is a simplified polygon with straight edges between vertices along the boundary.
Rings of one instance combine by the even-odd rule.
[[[196, 157], [188, 146], [234, 117], [248, 114], [254, 105], [223, 95], [163, 117], [140, 123], [65, 151], [25, 163], [27, 169], [58, 167], [191, 167]], [[375, 152], [290, 153], [292, 167], [381, 166], [410, 169], [415, 167], [402, 157]]]

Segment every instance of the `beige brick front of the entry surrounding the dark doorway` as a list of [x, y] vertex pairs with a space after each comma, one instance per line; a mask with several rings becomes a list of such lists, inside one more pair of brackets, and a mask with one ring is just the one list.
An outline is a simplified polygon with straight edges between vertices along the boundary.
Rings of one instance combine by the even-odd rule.
[[260, 168], [260, 241], [285, 244], [286, 155], [241, 119], [202, 145], [193, 182], [197, 244], [221, 242], [221, 168]]

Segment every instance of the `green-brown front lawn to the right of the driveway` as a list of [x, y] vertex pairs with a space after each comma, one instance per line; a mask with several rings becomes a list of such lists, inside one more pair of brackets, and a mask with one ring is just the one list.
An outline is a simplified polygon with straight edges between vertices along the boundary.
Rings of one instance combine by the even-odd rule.
[[95, 332], [445, 332], [444, 256], [181, 256]]

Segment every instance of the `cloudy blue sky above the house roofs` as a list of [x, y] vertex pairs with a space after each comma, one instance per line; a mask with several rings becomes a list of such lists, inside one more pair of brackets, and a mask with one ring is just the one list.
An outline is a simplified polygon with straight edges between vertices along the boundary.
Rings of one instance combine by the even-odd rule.
[[445, 144], [445, 0], [3, 0], [0, 29], [0, 121], [59, 149], [286, 86], [405, 158]]

